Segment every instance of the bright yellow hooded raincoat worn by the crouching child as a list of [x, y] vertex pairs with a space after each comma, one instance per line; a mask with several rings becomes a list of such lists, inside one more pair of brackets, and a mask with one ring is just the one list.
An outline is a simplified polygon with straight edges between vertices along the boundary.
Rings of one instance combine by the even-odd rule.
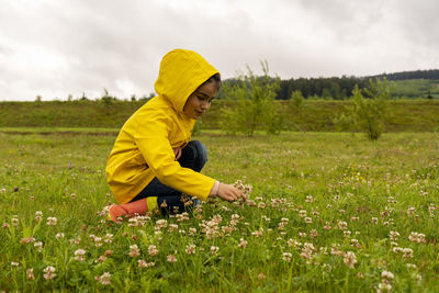
[[106, 179], [120, 204], [130, 202], [155, 177], [187, 194], [207, 198], [215, 180], [181, 167], [172, 148], [190, 142], [195, 124], [183, 113], [185, 101], [217, 72], [195, 52], [175, 49], [165, 55], [155, 83], [158, 95], [125, 122], [108, 159]]

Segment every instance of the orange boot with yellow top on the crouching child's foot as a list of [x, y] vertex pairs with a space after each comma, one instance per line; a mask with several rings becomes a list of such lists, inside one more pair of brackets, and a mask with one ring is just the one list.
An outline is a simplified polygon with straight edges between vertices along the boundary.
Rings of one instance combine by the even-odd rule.
[[[154, 204], [154, 201], [156, 204]], [[132, 217], [135, 216], [136, 214], [144, 215], [147, 211], [151, 211], [155, 206], [157, 206], [156, 196], [142, 199], [135, 202], [123, 203], [123, 204], [114, 203], [110, 206], [109, 215], [113, 222], [116, 222], [117, 217], [120, 216]]]

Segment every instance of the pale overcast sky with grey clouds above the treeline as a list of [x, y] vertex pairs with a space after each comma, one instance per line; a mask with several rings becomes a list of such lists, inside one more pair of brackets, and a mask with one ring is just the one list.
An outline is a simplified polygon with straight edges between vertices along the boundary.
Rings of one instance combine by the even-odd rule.
[[0, 0], [0, 101], [154, 91], [161, 57], [199, 52], [234, 77], [439, 68], [437, 0]]

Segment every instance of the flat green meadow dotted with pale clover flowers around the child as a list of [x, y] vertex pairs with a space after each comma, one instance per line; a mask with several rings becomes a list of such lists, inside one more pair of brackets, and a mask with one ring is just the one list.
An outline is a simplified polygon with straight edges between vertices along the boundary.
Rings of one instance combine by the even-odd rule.
[[112, 132], [0, 133], [0, 291], [437, 292], [439, 137], [203, 132], [249, 201], [109, 225]]

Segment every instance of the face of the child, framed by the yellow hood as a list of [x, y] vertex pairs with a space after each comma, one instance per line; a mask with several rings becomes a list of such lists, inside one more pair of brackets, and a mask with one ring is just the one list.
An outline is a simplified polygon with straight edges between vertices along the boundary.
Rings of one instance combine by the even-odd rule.
[[212, 100], [218, 93], [216, 82], [207, 82], [198, 88], [184, 104], [183, 112], [188, 117], [199, 119], [203, 115], [209, 108], [211, 108]]

